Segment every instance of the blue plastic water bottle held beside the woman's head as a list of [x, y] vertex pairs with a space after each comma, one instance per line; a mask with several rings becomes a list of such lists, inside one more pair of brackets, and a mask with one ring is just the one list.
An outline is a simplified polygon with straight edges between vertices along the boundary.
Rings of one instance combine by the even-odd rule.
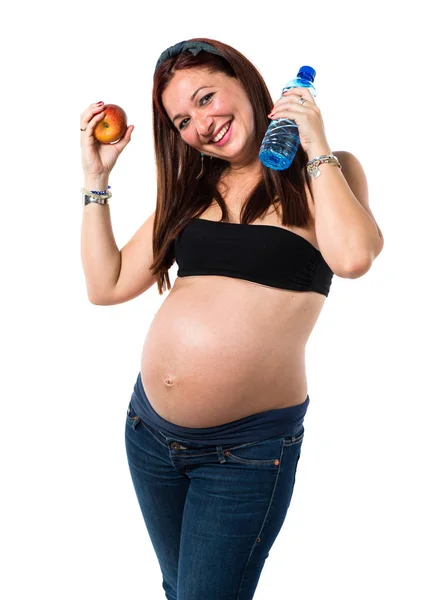
[[[306, 87], [315, 97], [316, 90], [312, 85], [315, 75], [316, 71], [312, 67], [300, 67], [297, 77], [285, 84], [282, 94], [292, 87]], [[271, 121], [262, 140], [259, 159], [266, 167], [283, 171], [291, 166], [299, 144], [297, 124], [291, 119], [275, 119]]]

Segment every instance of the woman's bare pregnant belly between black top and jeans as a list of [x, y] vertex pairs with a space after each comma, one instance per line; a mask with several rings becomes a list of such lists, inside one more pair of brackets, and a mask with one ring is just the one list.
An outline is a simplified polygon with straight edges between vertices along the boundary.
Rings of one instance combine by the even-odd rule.
[[228, 279], [178, 279], [149, 327], [143, 387], [177, 425], [213, 427], [306, 399], [306, 305], [297, 317], [292, 292]]

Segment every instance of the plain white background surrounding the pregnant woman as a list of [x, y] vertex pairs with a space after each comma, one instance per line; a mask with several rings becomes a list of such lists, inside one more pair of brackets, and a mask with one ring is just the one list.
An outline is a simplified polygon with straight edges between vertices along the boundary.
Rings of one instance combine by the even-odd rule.
[[[434, 589], [431, 27], [422, 2], [24, 2], [2, 53], [1, 535], [5, 600], [164, 598], [130, 479], [125, 413], [157, 286], [88, 299], [80, 114], [119, 104], [121, 248], [156, 201], [151, 91], [168, 46], [228, 43], [277, 100], [312, 65], [332, 150], [361, 161], [385, 238], [334, 277], [307, 346], [311, 404], [287, 519], [255, 600], [428, 600]], [[429, 58], [431, 57], [431, 58]], [[177, 265], [170, 277], [175, 280]]]

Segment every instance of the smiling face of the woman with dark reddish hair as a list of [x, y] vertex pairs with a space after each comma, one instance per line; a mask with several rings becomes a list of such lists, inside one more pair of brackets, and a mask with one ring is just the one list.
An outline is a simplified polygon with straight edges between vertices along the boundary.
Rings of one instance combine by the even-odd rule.
[[[203, 68], [176, 71], [162, 102], [179, 135], [192, 148], [232, 166], [252, 161], [253, 108], [237, 79]], [[222, 145], [213, 143], [212, 138], [228, 123], [229, 136]]]

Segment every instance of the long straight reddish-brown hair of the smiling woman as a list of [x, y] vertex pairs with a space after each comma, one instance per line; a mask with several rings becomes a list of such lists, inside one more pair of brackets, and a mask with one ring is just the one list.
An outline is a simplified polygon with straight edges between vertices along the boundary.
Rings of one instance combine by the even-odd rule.
[[[192, 38], [190, 42], [207, 42], [217, 48], [218, 56], [201, 51], [196, 56], [181, 52], [160, 65], [154, 75], [152, 110], [154, 127], [154, 150], [157, 166], [157, 205], [153, 229], [154, 262], [151, 270], [157, 275], [159, 294], [172, 289], [169, 269], [175, 261], [174, 241], [188, 222], [202, 214], [216, 200], [222, 210], [222, 220], [228, 220], [227, 208], [217, 189], [219, 178], [230, 166], [228, 161], [204, 156], [204, 174], [198, 180], [201, 169], [200, 153], [186, 144], [167, 115], [161, 97], [176, 71], [206, 68], [210, 73], [222, 72], [235, 77], [242, 84], [253, 108], [257, 153], [267, 131], [273, 108], [273, 100], [261, 74], [240, 52], [217, 40]], [[251, 223], [267, 214], [270, 205], [276, 208], [280, 199], [282, 225], [303, 227], [308, 225], [310, 212], [305, 184], [312, 195], [305, 166], [308, 162], [301, 144], [295, 158], [284, 171], [275, 171], [262, 165], [262, 180], [246, 200], [241, 223]]]

